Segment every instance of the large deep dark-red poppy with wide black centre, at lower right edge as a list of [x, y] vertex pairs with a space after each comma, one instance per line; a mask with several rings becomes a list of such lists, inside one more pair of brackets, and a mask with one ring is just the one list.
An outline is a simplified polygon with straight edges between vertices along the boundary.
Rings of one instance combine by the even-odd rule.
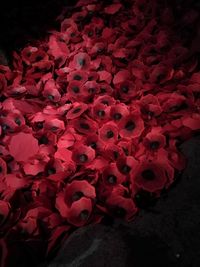
[[140, 162], [131, 172], [132, 183], [149, 192], [160, 191], [167, 184], [166, 167], [165, 163], [157, 161]]

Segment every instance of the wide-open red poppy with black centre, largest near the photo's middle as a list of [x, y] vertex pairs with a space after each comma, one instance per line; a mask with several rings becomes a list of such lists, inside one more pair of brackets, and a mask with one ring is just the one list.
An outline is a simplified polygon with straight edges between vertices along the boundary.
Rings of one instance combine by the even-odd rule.
[[144, 122], [138, 112], [132, 112], [130, 115], [124, 117], [118, 126], [120, 136], [128, 139], [140, 136], [144, 130]]

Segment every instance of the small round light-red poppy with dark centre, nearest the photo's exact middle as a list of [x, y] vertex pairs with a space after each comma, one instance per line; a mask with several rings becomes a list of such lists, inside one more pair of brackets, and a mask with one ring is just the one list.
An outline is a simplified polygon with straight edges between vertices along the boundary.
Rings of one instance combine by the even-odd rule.
[[105, 123], [98, 133], [99, 138], [104, 142], [114, 143], [118, 140], [118, 128], [112, 122]]

